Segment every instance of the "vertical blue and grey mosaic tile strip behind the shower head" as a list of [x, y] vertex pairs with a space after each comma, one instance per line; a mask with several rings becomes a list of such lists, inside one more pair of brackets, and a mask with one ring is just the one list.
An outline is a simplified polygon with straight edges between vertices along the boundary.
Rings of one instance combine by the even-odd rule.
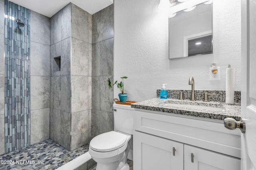
[[30, 145], [30, 10], [5, 0], [4, 14], [4, 140], [10, 152]]

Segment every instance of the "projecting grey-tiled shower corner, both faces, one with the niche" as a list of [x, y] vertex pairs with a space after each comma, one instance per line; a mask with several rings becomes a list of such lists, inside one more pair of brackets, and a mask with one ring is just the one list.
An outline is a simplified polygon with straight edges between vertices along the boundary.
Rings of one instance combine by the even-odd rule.
[[50, 24], [50, 138], [74, 150], [91, 139], [92, 15], [70, 3]]

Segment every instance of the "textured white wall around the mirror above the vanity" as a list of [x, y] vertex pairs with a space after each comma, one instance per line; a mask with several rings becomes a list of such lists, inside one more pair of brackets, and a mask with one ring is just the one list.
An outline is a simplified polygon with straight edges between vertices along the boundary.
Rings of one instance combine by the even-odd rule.
[[[213, 2], [213, 54], [168, 59], [168, 14], [157, 8], [159, 0], [114, 2], [114, 80], [124, 81], [129, 101], [156, 97], [156, 89], [225, 90], [226, 68], [236, 67], [235, 90], [241, 89], [240, 0]], [[209, 67], [217, 62], [221, 80], [209, 81]], [[119, 89], [114, 89], [118, 98]]]

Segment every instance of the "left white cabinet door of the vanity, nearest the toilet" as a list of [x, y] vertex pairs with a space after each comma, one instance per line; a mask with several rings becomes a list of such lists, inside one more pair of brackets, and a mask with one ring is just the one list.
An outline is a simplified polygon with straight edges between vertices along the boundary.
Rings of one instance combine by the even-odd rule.
[[183, 143], [134, 131], [133, 147], [134, 170], [183, 170]]

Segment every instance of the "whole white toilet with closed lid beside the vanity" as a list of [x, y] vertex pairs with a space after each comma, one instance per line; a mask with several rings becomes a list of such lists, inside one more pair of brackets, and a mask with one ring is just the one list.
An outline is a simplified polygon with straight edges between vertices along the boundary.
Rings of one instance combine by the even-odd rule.
[[90, 142], [89, 153], [97, 162], [96, 170], [129, 170], [126, 160], [132, 141], [134, 109], [121, 104], [113, 107], [114, 131], [102, 133]]

